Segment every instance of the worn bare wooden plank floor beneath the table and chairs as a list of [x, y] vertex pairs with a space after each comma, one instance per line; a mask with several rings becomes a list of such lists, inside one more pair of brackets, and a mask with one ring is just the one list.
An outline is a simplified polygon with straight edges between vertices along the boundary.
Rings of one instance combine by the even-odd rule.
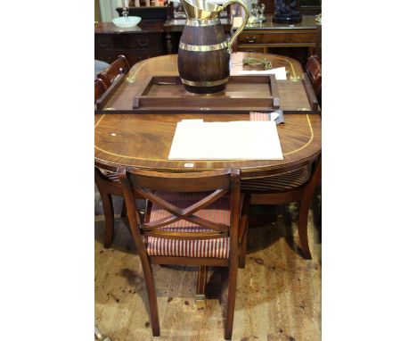
[[[116, 201], [115, 212], [120, 212]], [[102, 203], [95, 191], [95, 325], [112, 341], [223, 340], [227, 271], [208, 273], [204, 310], [194, 306], [197, 273], [192, 267], [154, 266], [160, 337], [151, 336], [149, 306], [139, 256], [119, 218], [110, 249], [102, 247]], [[321, 243], [310, 211], [312, 261], [294, 251], [297, 211], [275, 210], [273, 225], [249, 229], [246, 269], [239, 269], [233, 340], [316, 341], [321, 339]]]

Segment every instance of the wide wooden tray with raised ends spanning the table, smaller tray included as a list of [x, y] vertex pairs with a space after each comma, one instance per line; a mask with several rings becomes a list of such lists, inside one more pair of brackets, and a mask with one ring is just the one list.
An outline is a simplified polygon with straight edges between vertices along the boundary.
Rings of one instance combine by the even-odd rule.
[[307, 74], [297, 81], [274, 76], [230, 76], [223, 93], [197, 95], [185, 91], [178, 76], [151, 76], [125, 83], [120, 74], [97, 100], [95, 113], [319, 113]]

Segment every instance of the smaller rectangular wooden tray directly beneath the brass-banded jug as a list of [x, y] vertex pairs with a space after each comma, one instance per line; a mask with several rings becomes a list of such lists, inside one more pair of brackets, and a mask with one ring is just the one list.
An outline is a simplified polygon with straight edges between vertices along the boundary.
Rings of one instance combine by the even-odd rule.
[[279, 109], [274, 76], [230, 76], [225, 91], [200, 95], [185, 90], [177, 76], [151, 76], [133, 101], [133, 109], [143, 113], [272, 112]]

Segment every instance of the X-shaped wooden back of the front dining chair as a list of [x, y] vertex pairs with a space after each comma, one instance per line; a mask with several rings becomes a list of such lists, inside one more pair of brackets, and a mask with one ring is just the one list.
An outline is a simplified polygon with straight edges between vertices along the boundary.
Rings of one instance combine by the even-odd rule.
[[[213, 170], [189, 173], [168, 173], [119, 167], [118, 176], [127, 204], [127, 215], [136, 245], [143, 248], [143, 236], [176, 240], [202, 240], [230, 237], [231, 245], [237, 245], [239, 216], [241, 212], [240, 170]], [[197, 203], [188, 207], [176, 207], [166, 200], [167, 193], [199, 193]], [[135, 195], [147, 199], [144, 217], [139, 216]], [[230, 222], [223, 224], [196, 215], [197, 212], [225, 200], [230, 195]], [[168, 212], [168, 217], [149, 221], [151, 205]], [[189, 204], [189, 203], [187, 203]], [[161, 229], [164, 226], [186, 220], [199, 226], [199, 231], [185, 232]], [[138, 229], [139, 228], [139, 229]]]

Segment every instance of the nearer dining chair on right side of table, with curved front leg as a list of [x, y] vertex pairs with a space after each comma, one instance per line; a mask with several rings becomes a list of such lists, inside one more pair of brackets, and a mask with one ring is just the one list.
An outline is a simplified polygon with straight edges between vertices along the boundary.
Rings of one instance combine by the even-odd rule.
[[241, 190], [250, 192], [250, 204], [281, 205], [298, 203], [298, 237], [302, 254], [311, 259], [307, 223], [315, 188], [322, 179], [322, 158], [282, 173], [266, 170], [259, 178], [241, 181]]

